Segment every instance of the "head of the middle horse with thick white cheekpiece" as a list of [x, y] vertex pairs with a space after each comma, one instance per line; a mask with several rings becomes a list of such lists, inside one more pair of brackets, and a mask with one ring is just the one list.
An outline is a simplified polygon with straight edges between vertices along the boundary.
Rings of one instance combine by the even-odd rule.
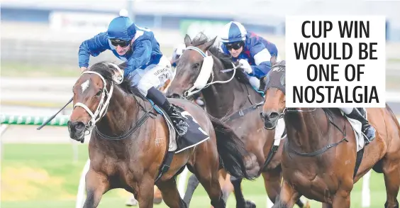
[[177, 60], [177, 72], [167, 97], [189, 97], [194, 89], [202, 89], [211, 79], [213, 73], [213, 56], [209, 48], [216, 38], [208, 40], [205, 35], [196, 38], [193, 42], [189, 35], [184, 38], [186, 50]]

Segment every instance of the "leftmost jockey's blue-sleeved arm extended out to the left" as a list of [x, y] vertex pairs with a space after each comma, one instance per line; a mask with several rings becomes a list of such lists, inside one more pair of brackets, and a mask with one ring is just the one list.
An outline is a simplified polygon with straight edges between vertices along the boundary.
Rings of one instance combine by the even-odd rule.
[[110, 45], [106, 33], [99, 33], [89, 40], [84, 40], [79, 46], [79, 67], [88, 67], [90, 55], [96, 57], [107, 49], [110, 49]]

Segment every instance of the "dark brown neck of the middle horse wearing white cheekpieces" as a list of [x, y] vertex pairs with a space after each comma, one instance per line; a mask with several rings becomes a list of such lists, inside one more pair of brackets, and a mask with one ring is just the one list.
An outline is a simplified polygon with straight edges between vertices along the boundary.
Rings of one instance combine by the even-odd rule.
[[[232, 77], [230, 74], [220, 72], [221, 69], [223, 69], [221, 64], [214, 65], [213, 82], [226, 81]], [[228, 116], [235, 111], [243, 109], [243, 107], [262, 101], [260, 95], [252, 89], [250, 84], [248, 84], [246, 89], [246, 84], [239, 82], [235, 77], [227, 83], [211, 84], [201, 92], [206, 102], [207, 111], [216, 118]], [[252, 103], [249, 102], [249, 95]]]

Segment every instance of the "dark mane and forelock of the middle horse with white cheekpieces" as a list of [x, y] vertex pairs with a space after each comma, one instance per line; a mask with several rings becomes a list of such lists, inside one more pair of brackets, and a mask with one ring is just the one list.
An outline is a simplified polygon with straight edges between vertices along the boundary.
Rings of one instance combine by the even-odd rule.
[[[207, 42], [209, 42], [209, 38], [207, 37], [207, 35], [205, 35], [202, 32], [200, 32], [198, 35], [196, 35], [195, 38], [193, 38], [193, 40], [191, 40], [191, 44], [193, 46], [203, 45], [204, 43], [207, 43]], [[233, 67], [232, 56], [221, 52], [221, 50], [219, 50], [218, 46], [211, 45], [211, 47], [209, 48], [209, 51], [212, 55], [214, 55], [218, 60], [221, 61], [224, 69], [230, 69]], [[228, 72], [227, 74], [232, 75], [232, 73], [233, 72]], [[250, 84], [250, 81], [248, 80], [248, 77], [245, 75], [245, 72], [243, 72], [243, 70], [236, 70], [235, 78], [239, 82], [242, 82], [243, 84]]]

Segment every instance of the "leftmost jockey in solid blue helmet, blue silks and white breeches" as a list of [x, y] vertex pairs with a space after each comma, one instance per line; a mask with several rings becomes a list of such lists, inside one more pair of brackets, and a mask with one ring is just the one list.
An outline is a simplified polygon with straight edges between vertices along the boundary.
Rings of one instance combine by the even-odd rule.
[[175, 106], [158, 90], [167, 80], [172, 80], [170, 61], [160, 52], [160, 45], [152, 31], [136, 26], [127, 16], [118, 16], [106, 32], [99, 33], [79, 47], [79, 67], [87, 70], [89, 56], [96, 57], [111, 50], [117, 58], [127, 62], [124, 77], [132, 80], [143, 96], [151, 99], [170, 116], [179, 136], [187, 133], [188, 124]]

